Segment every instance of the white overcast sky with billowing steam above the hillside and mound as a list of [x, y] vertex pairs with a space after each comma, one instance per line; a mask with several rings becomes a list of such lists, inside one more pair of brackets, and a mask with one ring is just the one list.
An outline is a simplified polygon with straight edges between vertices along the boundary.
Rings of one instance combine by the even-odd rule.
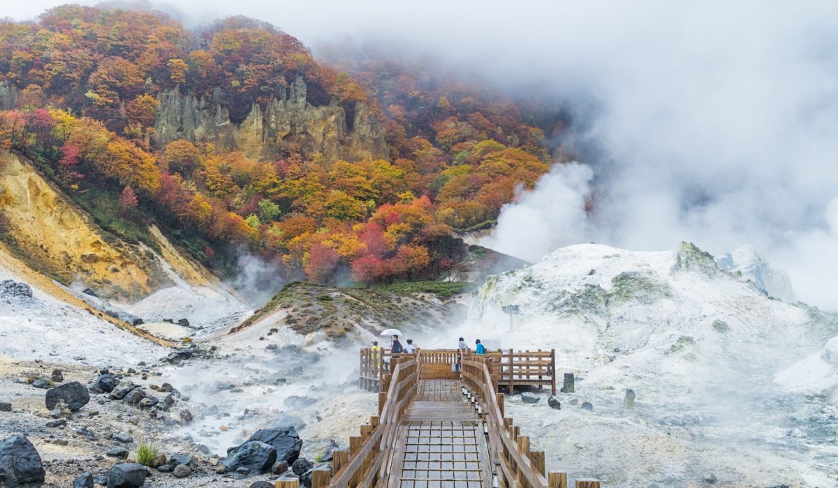
[[[5, 2], [34, 18], [59, 4]], [[754, 244], [806, 301], [838, 308], [838, 2], [392, 0], [155, 3], [188, 23], [244, 14], [307, 44], [349, 34], [431, 52], [500, 85], [541, 81], [595, 161], [507, 208], [498, 249], [595, 240], [714, 254]], [[175, 15], [178, 17], [178, 15]], [[398, 41], [396, 44], [395, 41]], [[408, 46], [413, 46], [409, 48]], [[596, 191], [595, 212], [581, 212]]]

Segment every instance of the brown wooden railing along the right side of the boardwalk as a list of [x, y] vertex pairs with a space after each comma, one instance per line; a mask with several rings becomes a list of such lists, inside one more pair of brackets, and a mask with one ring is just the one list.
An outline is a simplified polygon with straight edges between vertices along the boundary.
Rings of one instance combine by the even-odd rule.
[[[463, 387], [478, 406], [478, 414], [489, 437], [492, 471], [501, 488], [567, 488], [567, 474], [546, 473], [544, 451], [530, 449], [530, 438], [520, 435], [513, 419], [505, 416], [504, 394], [498, 393], [492, 379], [493, 359], [465, 356], [462, 363]], [[577, 488], [599, 488], [597, 480], [577, 480]]]

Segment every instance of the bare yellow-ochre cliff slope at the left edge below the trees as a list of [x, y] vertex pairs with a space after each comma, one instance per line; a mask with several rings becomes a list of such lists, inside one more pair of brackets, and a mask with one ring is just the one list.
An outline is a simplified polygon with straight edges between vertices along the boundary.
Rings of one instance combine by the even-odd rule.
[[0, 154], [0, 236], [29, 267], [69, 285], [80, 282], [116, 301], [132, 302], [184, 282], [215, 285], [202, 266], [180, 254], [157, 228], [160, 252], [107, 233], [28, 162]]

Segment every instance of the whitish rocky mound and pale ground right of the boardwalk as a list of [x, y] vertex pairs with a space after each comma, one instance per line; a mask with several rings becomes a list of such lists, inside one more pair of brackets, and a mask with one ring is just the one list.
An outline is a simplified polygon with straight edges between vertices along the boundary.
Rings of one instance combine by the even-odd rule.
[[[818, 351], [835, 336], [835, 318], [767, 295], [692, 244], [575, 245], [490, 277], [474, 292], [468, 324], [450, 335], [555, 347], [560, 386], [561, 372], [581, 377], [576, 393], [559, 394], [561, 410], [510, 400], [516, 424], [551, 453], [551, 469], [613, 486], [830, 485], [835, 404], [773, 380], [786, 368], [799, 373], [793, 365], [817, 352], [806, 364], [821, 381], [809, 391], [828, 387], [832, 349]], [[522, 312], [512, 333], [505, 305]], [[626, 388], [634, 410], [623, 407]]]

